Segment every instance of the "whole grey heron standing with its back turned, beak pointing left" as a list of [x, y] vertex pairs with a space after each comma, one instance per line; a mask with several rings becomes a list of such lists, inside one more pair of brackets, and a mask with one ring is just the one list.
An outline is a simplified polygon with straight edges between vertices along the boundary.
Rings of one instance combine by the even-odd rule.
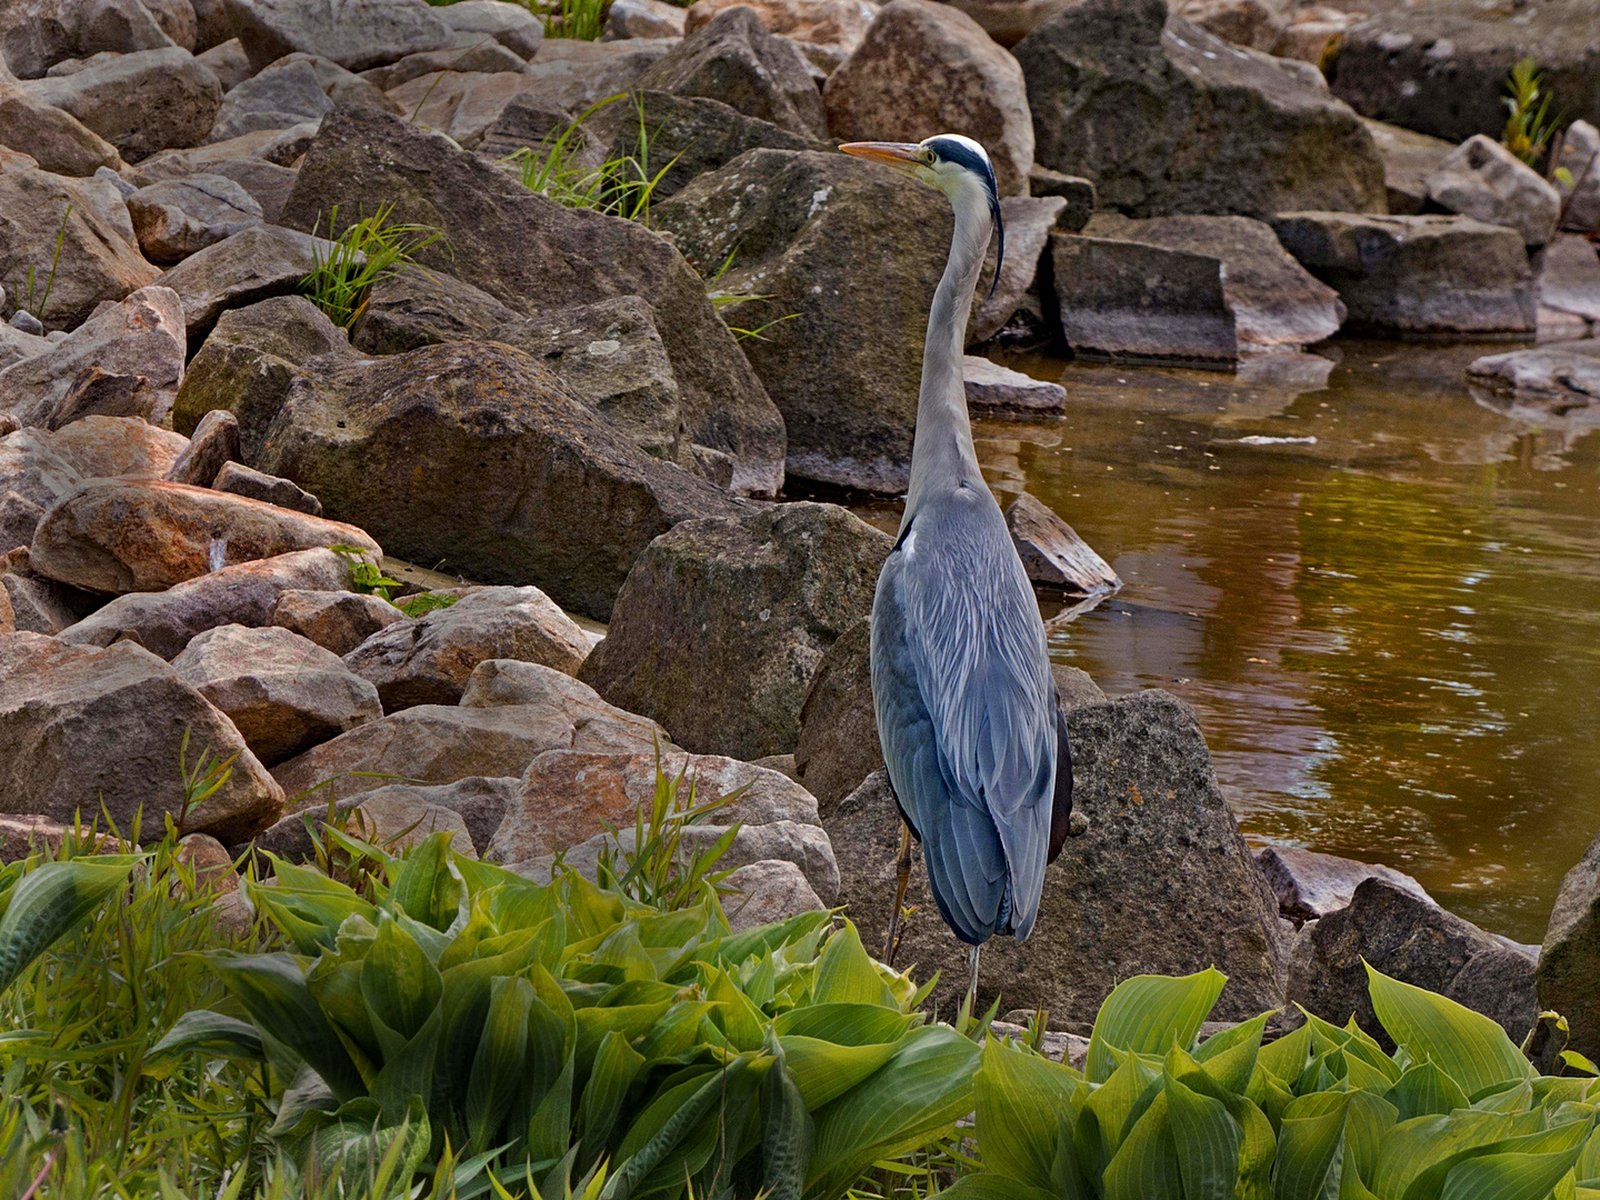
[[840, 147], [933, 184], [955, 235], [928, 314], [910, 486], [872, 602], [872, 701], [901, 811], [898, 949], [912, 838], [950, 931], [978, 955], [997, 933], [1027, 938], [1045, 866], [1072, 813], [1072, 758], [1045, 626], [1000, 506], [978, 469], [962, 379], [966, 318], [989, 237], [1005, 227], [982, 146], [958, 134]]

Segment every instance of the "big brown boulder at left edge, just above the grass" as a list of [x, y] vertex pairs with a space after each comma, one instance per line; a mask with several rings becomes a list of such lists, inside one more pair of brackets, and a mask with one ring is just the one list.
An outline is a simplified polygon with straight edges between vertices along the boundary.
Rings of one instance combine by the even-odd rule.
[[[186, 746], [187, 742], [187, 746]], [[178, 672], [133, 645], [96, 650], [40, 634], [0, 637], [0, 808], [70, 822], [110, 814], [128, 830], [178, 819], [184, 774], [232, 758], [186, 830], [237, 842], [277, 821], [283, 792], [234, 723]], [[237, 757], [235, 757], [237, 755]]]

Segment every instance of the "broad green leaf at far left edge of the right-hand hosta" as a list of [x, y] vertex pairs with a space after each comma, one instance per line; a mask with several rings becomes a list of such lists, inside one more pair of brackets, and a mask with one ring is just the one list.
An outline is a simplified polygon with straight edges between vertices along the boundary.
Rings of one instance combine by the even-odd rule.
[[1062, 1126], [1069, 1134], [1072, 1130], [1077, 1086], [1077, 1075], [1059, 1062], [989, 1038], [973, 1078], [984, 1165], [1034, 1187], [1051, 1187]]

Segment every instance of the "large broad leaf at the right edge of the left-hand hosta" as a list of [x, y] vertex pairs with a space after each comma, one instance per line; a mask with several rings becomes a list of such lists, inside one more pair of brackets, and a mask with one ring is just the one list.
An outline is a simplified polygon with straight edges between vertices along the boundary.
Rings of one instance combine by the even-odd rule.
[[971, 1112], [978, 1058], [978, 1046], [947, 1026], [907, 1034], [882, 1070], [813, 1114], [806, 1197], [837, 1197], [878, 1158], [952, 1128]]

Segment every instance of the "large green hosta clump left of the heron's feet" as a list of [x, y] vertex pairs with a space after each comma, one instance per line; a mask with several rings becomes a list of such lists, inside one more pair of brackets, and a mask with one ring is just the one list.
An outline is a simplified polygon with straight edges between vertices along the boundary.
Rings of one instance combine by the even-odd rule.
[[485, 1166], [462, 1198], [827, 1200], [971, 1110], [979, 1048], [829, 914], [734, 934], [710, 883], [661, 912], [443, 834], [368, 896], [274, 870], [246, 886], [293, 949], [211, 954], [232, 1003], [154, 1053], [264, 1061], [302, 1170], [410, 1182], [448, 1154]]

